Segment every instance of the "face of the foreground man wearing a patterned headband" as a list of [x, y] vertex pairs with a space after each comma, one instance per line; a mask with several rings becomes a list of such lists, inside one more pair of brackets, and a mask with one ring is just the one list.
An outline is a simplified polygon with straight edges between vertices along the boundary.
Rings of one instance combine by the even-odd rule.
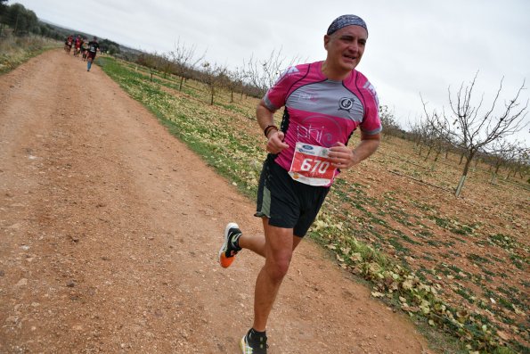
[[351, 71], [361, 62], [368, 32], [361, 26], [338, 29], [331, 36], [324, 36], [328, 51], [326, 62], [335, 70]]

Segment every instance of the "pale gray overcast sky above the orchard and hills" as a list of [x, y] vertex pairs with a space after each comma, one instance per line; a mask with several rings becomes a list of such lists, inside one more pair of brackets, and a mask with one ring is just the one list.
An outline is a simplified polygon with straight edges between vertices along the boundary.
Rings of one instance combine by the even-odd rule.
[[[177, 40], [206, 51], [206, 60], [241, 67], [253, 55], [281, 49], [286, 62], [325, 59], [322, 37], [336, 17], [361, 16], [369, 38], [357, 70], [376, 87], [379, 103], [406, 128], [430, 109], [448, 107], [447, 88], [478, 71], [476, 98], [491, 103], [504, 77], [501, 105], [526, 79], [530, 86], [528, 0], [10, 0], [70, 29], [148, 52]], [[523, 92], [525, 104], [530, 90]], [[530, 120], [530, 114], [526, 121]], [[519, 135], [529, 145], [528, 127]]]

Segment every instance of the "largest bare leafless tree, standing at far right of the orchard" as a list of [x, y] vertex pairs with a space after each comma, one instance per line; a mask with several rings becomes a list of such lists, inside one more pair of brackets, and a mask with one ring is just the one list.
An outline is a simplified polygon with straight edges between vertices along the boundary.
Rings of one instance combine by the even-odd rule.
[[470, 163], [478, 151], [485, 149], [494, 141], [510, 136], [526, 127], [524, 119], [527, 113], [528, 101], [524, 105], [518, 102], [521, 92], [526, 88], [525, 81], [523, 80], [523, 84], [518, 88], [517, 94], [504, 103], [504, 108], [495, 111], [495, 106], [502, 90], [503, 79], [501, 79], [501, 84], [491, 107], [480, 112], [484, 95], [482, 95], [477, 105], [471, 103], [477, 75], [478, 72], [468, 86], [464, 86], [464, 83], [462, 83], [454, 96], [451, 93], [451, 86], [448, 87], [451, 107], [449, 117], [445, 114], [445, 111], [442, 114], [438, 114], [436, 111], [429, 113], [427, 111], [427, 103], [421, 97], [425, 115], [432, 122], [432, 126], [440, 131], [442, 136], [446, 136], [453, 144], [465, 151], [466, 163], [460, 182], [456, 187], [456, 196], [461, 194], [462, 187], [468, 177]]

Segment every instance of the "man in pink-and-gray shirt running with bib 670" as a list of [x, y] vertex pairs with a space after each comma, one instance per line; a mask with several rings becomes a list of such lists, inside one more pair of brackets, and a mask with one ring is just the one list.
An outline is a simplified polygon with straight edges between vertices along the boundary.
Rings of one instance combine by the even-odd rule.
[[[238, 251], [265, 257], [257, 275], [254, 323], [243, 336], [243, 354], [266, 353], [265, 327], [293, 251], [313, 224], [340, 171], [351, 169], [379, 146], [381, 123], [373, 86], [355, 67], [368, 38], [366, 23], [343, 15], [330, 24], [323, 45], [326, 60], [286, 70], [257, 105], [257, 123], [268, 156], [257, 192], [263, 235], [243, 235], [230, 223], [224, 230], [219, 262], [228, 268]], [[285, 106], [281, 128], [273, 113]], [[347, 147], [356, 128], [361, 143]]]

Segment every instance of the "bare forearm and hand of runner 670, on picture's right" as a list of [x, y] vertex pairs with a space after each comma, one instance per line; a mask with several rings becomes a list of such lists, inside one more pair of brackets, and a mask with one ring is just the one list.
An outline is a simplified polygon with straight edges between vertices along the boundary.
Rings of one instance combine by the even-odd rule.
[[345, 144], [337, 143], [330, 148], [330, 158], [333, 165], [339, 169], [350, 169], [367, 159], [379, 147], [381, 137], [379, 134], [372, 136], [361, 133], [361, 143], [352, 150]]

